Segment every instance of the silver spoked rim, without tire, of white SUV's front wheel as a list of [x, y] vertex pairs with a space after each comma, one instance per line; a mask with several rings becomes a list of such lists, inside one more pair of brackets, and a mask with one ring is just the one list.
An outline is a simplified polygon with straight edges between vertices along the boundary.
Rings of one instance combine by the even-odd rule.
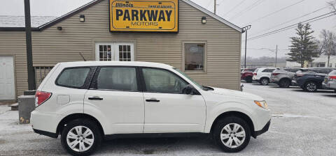
[[244, 143], [246, 132], [244, 128], [237, 123], [229, 123], [221, 130], [221, 141], [228, 148], [237, 148]]

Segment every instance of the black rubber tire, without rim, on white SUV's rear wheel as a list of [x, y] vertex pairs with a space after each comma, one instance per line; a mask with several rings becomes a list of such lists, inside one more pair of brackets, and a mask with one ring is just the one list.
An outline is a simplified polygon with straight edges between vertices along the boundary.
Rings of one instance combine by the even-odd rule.
[[[87, 150], [83, 151], [83, 152], [79, 152], [76, 150], [73, 150], [69, 147], [68, 143], [67, 143], [67, 134], [69, 133], [69, 131], [73, 130], [74, 127], [77, 126], [82, 126], [82, 127], [87, 127], [89, 130], [91, 130], [92, 134], [90, 136], [88, 136], [88, 138], [92, 138], [93, 139], [93, 143], [92, 146], [90, 146]], [[83, 131], [83, 130], [82, 130]], [[86, 132], [87, 130], [85, 130]], [[74, 132], [74, 131], [71, 131]], [[83, 133], [85, 133], [83, 132]], [[83, 138], [83, 137], [82, 137]], [[87, 139], [85, 137], [85, 139]], [[80, 141], [78, 141], [79, 139], [77, 139], [78, 143], [76, 144], [76, 146], [78, 145], [78, 149], [80, 148], [79, 145], [81, 143], [83, 143], [83, 145], [85, 145], [85, 139], [81, 139]], [[75, 141], [76, 139], [69, 139], [69, 141]], [[70, 121], [68, 124], [66, 124], [66, 126], [64, 127], [63, 131], [62, 131], [62, 135], [61, 135], [61, 143], [62, 143], [62, 147], [71, 155], [90, 155], [94, 152], [94, 150], [96, 150], [99, 146], [100, 143], [102, 142], [102, 134], [99, 131], [99, 127], [97, 126], [97, 123], [95, 123], [92, 120], [88, 120], [88, 119], [76, 119], [76, 120], [72, 120]], [[87, 146], [88, 144], [86, 144]], [[76, 148], [76, 146], [74, 146]]]

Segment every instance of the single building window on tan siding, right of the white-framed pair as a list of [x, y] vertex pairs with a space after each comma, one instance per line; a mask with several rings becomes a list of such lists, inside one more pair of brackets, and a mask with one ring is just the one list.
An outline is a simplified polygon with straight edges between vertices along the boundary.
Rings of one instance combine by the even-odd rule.
[[205, 43], [184, 43], [184, 70], [204, 71]]

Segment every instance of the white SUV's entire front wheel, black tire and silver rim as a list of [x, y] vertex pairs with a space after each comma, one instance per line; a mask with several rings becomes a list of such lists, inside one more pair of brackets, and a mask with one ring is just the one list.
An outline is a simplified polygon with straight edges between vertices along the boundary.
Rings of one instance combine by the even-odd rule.
[[251, 132], [245, 120], [231, 116], [218, 120], [213, 136], [224, 152], [237, 153], [246, 148]]

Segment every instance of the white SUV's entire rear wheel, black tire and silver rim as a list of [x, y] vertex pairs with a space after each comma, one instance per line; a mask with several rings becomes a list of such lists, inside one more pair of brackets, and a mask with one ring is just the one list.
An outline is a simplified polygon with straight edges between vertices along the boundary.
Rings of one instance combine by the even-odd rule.
[[100, 146], [102, 135], [92, 120], [76, 119], [66, 124], [61, 143], [71, 155], [90, 155]]

